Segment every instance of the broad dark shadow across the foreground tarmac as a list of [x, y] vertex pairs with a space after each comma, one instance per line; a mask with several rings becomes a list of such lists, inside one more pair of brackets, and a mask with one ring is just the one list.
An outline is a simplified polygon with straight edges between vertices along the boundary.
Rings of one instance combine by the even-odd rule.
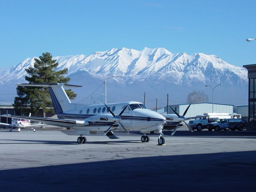
[[256, 188], [256, 151], [118, 160], [105, 155], [106, 160], [99, 162], [61, 160], [65, 164], [0, 170], [0, 191], [240, 192]]

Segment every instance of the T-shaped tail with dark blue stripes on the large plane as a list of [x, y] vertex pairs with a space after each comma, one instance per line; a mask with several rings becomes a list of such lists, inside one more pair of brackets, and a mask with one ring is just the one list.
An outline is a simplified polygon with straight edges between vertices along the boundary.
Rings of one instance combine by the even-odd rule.
[[62, 113], [63, 111], [68, 111], [72, 109], [72, 105], [70, 102], [70, 99], [68, 98], [68, 95], [66, 94], [63, 86], [66, 87], [82, 87], [78, 85], [70, 85], [70, 84], [64, 84], [64, 83], [22, 83], [17, 84], [18, 86], [33, 86], [33, 87], [47, 87], [50, 96], [52, 99], [52, 104], [54, 107], [55, 114]]

